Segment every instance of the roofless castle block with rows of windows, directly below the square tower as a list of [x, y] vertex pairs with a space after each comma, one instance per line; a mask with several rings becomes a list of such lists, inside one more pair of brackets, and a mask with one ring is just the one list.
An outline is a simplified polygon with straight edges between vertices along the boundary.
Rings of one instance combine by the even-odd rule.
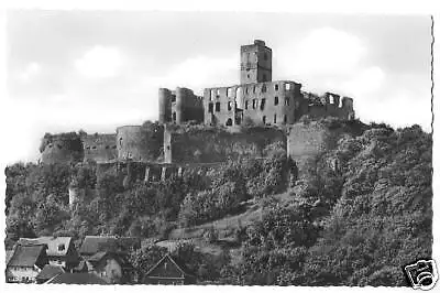
[[300, 116], [300, 84], [287, 80], [207, 88], [205, 123], [234, 126], [246, 120], [254, 124], [294, 123]]

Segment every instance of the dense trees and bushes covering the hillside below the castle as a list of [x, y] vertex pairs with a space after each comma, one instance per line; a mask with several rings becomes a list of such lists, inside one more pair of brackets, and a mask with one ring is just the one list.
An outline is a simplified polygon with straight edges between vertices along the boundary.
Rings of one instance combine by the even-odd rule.
[[[343, 122], [340, 122], [343, 123]], [[292, 176], [285, 145], [264, 160], [237, 160], [164, 182], [143, 182], [94, 162], [16, 163], [7, 175], [7, 239], [86, 235], [168, 239], [175, 229], [209, 227], [202, 241], [216, 256], [180, 243], [173, 252], [200, 282], [244, 285], [407, 285], [403, 265], [430, 258], [432, 245], [431, 134], [418, 126], [365, 126], [316, 158], [307, 180]], [[326, 164], [338, 159], [338, 167]], [[301, 172], [301, 171], [299, 171]], [[72, 178], [85, 191], [68, 205]], [[257, 206], [257, 220], [216, 220]], [[210, 226], [206, 226], [212, 223]], [[142, 275], [166, 249], [152, 240], [131, 261]]]

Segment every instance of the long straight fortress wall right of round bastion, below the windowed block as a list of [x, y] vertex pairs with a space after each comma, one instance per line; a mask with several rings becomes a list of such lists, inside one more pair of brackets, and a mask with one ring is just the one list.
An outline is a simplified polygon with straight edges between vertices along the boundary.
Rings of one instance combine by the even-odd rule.
[[[263, 156], [266, 145], [282, 141], [286, 137], [274, 128], [254, 128], [243, 132], [228, 132], [221, 129], [195, 131], [173, 131], [170, 153], [173, 163], [224, 162], [239, 156]], [[169, 160], [170, 161], [170, 160]]]

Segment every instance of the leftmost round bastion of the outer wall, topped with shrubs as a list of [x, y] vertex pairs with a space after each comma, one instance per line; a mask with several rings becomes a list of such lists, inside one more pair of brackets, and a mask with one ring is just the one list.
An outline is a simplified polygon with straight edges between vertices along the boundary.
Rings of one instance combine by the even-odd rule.
[[41, 153], [41, 160], [44, 164], [80, 162], [84, 158], [82, 143], [78, 137], [66, 138], [52, 135], [46, 140], [45, 148]]

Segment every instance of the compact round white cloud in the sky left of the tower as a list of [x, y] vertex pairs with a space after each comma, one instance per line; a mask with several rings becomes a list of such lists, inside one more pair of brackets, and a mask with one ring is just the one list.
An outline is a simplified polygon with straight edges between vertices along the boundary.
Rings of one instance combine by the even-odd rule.
[[123, 64], [118, 48], [97, 45], [75, 61], [75, 68], [86, 78], [110, 78], [118, 76]]

